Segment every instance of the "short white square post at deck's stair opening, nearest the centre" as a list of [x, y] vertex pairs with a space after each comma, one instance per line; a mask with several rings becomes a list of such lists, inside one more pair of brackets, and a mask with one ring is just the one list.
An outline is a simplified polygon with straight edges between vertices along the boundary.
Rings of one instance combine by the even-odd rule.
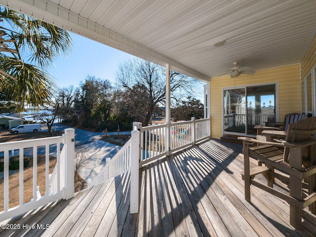
[[139, 134], [138, 130], [131, 132], [130, 214], [139, 209]]

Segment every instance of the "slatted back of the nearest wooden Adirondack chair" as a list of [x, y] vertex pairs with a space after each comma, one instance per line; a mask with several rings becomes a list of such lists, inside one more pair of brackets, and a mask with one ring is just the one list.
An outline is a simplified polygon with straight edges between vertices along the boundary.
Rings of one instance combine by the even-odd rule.
[[[316, 117], [290, 123], [287, 127], [286, 142], [305, 142], [311, 139], [316, 129]], [[289, 148], [285, 147], [283, 160], [288, 162]]]

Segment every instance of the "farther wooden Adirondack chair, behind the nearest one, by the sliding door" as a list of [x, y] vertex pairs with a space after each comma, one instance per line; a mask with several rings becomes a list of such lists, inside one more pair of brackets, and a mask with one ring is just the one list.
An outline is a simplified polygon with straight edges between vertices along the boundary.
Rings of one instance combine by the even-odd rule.
[[[306, 114], [298, 114], [298, 113], [291, 113], [284, 116], [284, 122], [281, 123], [270, 123], [269, 126], [259, 126], [256, 125], [255, 128], [257, 129], [257, 139], [265, 140], [265, 137], [262, 136], [263, 130], [282, 130], [287, 131], [287, 127], [290, 123], [297, 122], [299, 120], [303, 120], [308, 118]], [[273, 124], [278, 124], [278, 126], [273, 126]]]

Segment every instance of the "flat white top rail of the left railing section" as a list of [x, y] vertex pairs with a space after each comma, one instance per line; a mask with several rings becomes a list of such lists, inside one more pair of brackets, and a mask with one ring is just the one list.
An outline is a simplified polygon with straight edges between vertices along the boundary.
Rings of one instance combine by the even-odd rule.
[[62, 136], [56, 136], [56, 137], [45, 137], [45, 138], [29, 139], [29, 140], [23, 140], [23, 141], [0, 143], [0, 151], [3, 151], [5, 149], [13, 150], [17, 148], [44, 146], [44, 145], [54, 144], [54, 143], [64, 143], [64, 134]]

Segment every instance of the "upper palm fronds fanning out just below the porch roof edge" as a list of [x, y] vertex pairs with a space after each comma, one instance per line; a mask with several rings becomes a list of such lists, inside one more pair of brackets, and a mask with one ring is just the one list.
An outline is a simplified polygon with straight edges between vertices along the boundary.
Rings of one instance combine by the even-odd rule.
[[0, 19], [12, 27], [12, 39], [19, 51], [27, 54], [28, 63], [46, 68], [72, 48], [70, 33], [62, 28], [4, 7], [0, 8]]

